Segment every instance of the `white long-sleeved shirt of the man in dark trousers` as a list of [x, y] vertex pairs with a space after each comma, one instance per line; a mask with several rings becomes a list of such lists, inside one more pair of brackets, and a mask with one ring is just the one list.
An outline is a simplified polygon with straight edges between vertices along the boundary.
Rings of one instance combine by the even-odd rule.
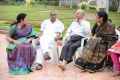
[[79, 22], [74, 21], [66, 32], [66, 36], [80, 35], [82, 37], [88, 38], [91, 35], [90, 23], [86, 20], [80, 20]]

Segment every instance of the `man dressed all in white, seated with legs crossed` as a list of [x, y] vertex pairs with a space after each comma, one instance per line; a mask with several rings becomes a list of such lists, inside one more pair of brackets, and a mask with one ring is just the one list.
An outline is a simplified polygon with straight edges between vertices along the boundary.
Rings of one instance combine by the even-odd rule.
[[36, 70], [41, 70], [45, 58], [50, 59], [48, 56], [49, 48], [51, 46], [57, 46], [56, 41], [64, 31], [63, 23], [57, 19], [57, 11], [50, 11], [50, 19], [43, 21], [41, 24], [41, 37], [40, 37], [40, 49], [37, 50], [36, 62], [38, 66]]

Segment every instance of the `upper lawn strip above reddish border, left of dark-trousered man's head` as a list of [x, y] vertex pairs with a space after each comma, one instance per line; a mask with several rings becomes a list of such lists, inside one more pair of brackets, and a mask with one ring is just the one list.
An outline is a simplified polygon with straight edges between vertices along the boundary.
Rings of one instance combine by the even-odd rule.
[[[49, 17], [49, 11], [51, 9], [63, 9], [56, 6], [47, 6], [44, 7], [43, 5], [36, 5], [36, 6], [0, 6], [0, 19], [15, 19], [16, 15], [19, 13], [27, 13], [30, 20], [44, 20]], [[41, 12], [43, 10], [43, 12]], [[44, 12], [44, 11], [48, 12]], [[71, 18], [73, 14], [70, 14], [73, 10], [62, 11], [58, 12], [58, 18]], [[68, 13], [67, 13], [68, 12]]]

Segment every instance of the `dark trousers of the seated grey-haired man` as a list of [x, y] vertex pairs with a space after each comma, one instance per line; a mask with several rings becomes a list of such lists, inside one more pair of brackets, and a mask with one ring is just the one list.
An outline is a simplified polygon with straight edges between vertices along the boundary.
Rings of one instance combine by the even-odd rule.
[[[81, 38], [82, 39], [82, 38]], [[81, 46], [81, 39], [75, 42], [67, 42], [61, 51], [60, 60], [65, 60], [67, 63], [73, 61], [72, 56], [75, 54], [75, 51], [78, 47]]]

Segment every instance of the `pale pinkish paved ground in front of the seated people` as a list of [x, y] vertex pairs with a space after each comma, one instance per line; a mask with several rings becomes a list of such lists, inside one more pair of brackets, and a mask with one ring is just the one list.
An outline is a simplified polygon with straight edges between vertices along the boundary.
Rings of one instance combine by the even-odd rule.
[[0, 80], [120, 80], [120, 77], [112, 77], [112, 71], [83, 73], [73, 63], [67, 65], [64, 72], [57, 65], [46, 62], [41, 71], [36, 71], [33, 65], [34, 72], [30, 74], [11, 75], [8, 73], [6, 44], [5, 35], [0, 34]]

